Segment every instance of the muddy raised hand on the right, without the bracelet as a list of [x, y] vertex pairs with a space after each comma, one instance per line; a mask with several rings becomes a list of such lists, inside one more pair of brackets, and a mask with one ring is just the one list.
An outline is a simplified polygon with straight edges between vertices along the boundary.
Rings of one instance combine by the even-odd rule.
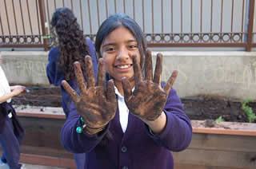
[[162, 54], [158, 53], [157, 55], [154, 79], [152, 55], [149, 50], [146, 52], [144, 79], [142, 77], [141, 67], [138, 63], [138, 57], [134, 56], [133, 62], [135, 81], [134, 92], [132, 92], [128, 79], [126, 77], [122, 79], [122, 88], [124, 90], [126, 105], [130, 112], [135, 116], [138, 116], [140, 119], [150, 121], [156, 120], [162, 113], [162, 110], [166, 104], [166, 99], [174, 84], [178, 72], [174, 71], [166, 85], [162, 88]]

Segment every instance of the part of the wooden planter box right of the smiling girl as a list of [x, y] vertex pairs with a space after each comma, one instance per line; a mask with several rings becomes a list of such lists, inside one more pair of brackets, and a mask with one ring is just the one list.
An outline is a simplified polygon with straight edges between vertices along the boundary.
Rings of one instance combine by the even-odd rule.
[[256, 124], [222, 122], [202, 128], [192, 120], [193, 139], [185, 151], [174, 152], [175, 169], [255, 169]]

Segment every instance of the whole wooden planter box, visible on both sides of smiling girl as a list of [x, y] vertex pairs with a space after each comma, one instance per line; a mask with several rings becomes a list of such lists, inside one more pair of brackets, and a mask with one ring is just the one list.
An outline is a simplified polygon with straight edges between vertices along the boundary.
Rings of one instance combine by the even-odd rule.
[[[73, 155], [60, 143], [62, 108], [17, 107], [16, 111], [26, 130], [23, 163], [75, 168]], [[173, 152], [175, 169], [256, 168], [256, 124], [222, 122], [218, 128], [204, 128], [203, 123], [192, 120], [190, 147]]]

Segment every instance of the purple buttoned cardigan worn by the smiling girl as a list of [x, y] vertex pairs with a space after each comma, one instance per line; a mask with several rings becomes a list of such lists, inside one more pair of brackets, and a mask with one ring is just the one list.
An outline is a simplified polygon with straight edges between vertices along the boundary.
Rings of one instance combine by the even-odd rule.
[[[117, 111], [105, 131], [90, 136], [76, 132], [81, 124], [72, 102], [70, 116], [62, 128], [62, 145], [71, 152], [86, 152], [84, 169], [173, 169], [174, 159], [170, 151], [182, 151], [189, 146], [192, 127], [174, 89], [170, 91], [164, 112], [166, 128], [159, 135], [153, 135], [146, 124], [132, 114], [129, 114], [128, 126], [123, 133]], [[113, 140], [102, 147], [99, 143], [107, 130]]]

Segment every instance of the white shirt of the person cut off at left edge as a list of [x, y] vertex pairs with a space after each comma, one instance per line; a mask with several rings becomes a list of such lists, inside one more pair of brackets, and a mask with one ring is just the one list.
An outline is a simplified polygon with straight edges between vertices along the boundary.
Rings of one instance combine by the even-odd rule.
[[[3, 72], [2, 67], [0, 65], [0, 96], [4, 96], [8, 93], [10, 93], [10, 85], [7, 81], [6, 74]], [[6, 100], [7, 103], [10, 103], [11, 98]], [[2, 102], [0, 102], [1, 104]]]

